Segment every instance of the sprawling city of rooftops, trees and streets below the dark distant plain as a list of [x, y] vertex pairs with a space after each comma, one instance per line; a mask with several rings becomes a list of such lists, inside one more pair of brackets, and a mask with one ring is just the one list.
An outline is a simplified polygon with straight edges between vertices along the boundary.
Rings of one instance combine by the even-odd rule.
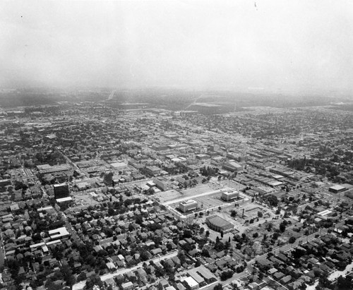
[[2, 289], [352, 289], [351, 114], [121, 107], [1, 112]]

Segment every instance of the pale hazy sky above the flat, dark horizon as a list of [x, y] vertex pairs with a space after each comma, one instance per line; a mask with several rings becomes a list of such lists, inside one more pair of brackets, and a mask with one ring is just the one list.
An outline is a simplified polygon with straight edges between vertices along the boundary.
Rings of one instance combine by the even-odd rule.
[[0, 84], [353, 92], [353, 1], [3, 0]]

